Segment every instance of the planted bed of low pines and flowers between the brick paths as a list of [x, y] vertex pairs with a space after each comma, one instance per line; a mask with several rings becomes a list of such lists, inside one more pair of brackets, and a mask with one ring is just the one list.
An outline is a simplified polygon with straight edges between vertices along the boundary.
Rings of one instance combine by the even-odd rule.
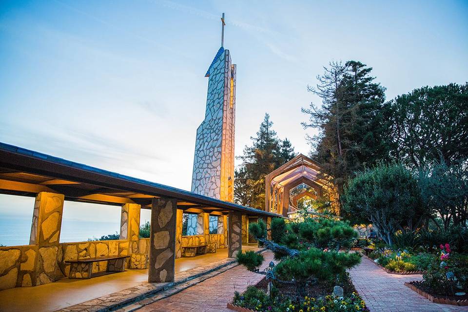
[[329, 217], [285, 222], [273, 219], [272, 240], [263, 221], [249, 231], [279, 261], [259, 271], [263, 256], [252, 251], [237, 254], [237, 261], [250, 271], [266, 275], [266, 287], [250, 287], [236, 293], [233, 304], [255, 311], [368, 311], [354, 292], [347, 269], [360, 262], [349, 252], [357, 233], [346, 222]]

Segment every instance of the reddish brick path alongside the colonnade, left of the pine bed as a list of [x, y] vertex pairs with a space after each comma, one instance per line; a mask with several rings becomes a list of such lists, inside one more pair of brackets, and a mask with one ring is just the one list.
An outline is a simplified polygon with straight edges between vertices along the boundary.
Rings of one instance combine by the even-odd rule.
[[[273, 253], [263, 254], [266, 267], [273, 260]], [[184, 291], [151, 303], [138, 312], [232, 312], [226, 308], [231, 302], [234, 291], [243, 292], [249, 285], [254, 285], [263, 275], [249, 272], [242, 266], [236, 266], [215, 277], [209, 278]]]

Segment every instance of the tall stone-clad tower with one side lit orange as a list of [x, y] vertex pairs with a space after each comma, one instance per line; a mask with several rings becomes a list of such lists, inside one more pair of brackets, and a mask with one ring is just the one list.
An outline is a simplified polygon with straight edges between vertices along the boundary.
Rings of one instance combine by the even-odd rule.
[[205, 77], [208, 95], [205, 119], [196, 130], [192, 192], [232, 202], [235, 65], [229, 50], [219, 48]]

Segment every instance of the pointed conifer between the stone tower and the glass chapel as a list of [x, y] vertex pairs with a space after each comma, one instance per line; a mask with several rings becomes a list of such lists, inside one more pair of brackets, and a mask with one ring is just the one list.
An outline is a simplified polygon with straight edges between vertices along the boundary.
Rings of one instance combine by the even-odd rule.
[[242, 165], [235, 170], [234, 201], [244, 206], [263, 209], [265, 176], [292, 159], [294, 148], [288, 139], [281, 140], [273, 130], [270, 115], [265, 114], [252, 145], [244, 148]]

